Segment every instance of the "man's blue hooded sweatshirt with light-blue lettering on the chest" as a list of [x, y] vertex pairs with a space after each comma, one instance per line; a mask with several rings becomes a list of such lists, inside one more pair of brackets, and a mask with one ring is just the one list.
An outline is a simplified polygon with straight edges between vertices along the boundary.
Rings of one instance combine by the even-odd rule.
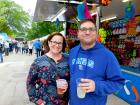
[[[84, 50], [80, 45], [70, 51], [70, 105], [105, 105], [107, 95], [120, 90], [124, 78], [119, 63], [111, 51], [96, 42], [93, 48]], [[76, 92], [76, 79], [95, 81], [95, 91], [80, 99]]]

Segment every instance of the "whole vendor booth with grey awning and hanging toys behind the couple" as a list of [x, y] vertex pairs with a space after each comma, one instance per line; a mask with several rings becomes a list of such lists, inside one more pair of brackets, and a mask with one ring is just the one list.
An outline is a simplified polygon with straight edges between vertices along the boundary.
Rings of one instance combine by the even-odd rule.
[[[86, 15], [82, 14], [84, 1]], [[66, 23], [65, 36], [72, 48], [79, 43], [77, 21], [93, 18], [101, 43], [116, 55], [126, 79], [123, 89], [114, 94], [131, 105], [140, 105], [139, 4], [139, 0], [37, 0], [34, 21], [54, 22], [58, 18]]]

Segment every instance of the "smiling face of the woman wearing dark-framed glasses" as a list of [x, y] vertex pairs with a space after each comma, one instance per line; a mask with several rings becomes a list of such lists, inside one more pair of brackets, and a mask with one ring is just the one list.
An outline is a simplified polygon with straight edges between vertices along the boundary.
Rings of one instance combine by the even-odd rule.
[[63, 38], [61, 36], [55, 35], [48, 42], [50, 52], [53, 54], [58, 54], [62, 51], [63, 48]]

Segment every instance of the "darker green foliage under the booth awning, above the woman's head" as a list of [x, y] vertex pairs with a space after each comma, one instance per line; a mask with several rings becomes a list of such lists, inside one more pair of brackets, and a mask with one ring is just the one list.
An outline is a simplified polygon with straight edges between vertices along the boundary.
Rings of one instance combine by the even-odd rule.
[[41, 38], [52, 32], [60, 32], [63, 30], [63, 24], [59, 23], [57, 27], [55, 22], [33, 22], [32, 27], [28, 30], [27, 39], [32, 40], [35, 38]]

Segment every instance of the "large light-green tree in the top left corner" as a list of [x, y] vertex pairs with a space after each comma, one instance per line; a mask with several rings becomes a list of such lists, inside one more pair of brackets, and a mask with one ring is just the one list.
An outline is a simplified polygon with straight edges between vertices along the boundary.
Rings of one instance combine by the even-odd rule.
[[11, 0], [0, 0], [0, 32], [8, 35], [25, 33], [29, 27], [30, 15]]

